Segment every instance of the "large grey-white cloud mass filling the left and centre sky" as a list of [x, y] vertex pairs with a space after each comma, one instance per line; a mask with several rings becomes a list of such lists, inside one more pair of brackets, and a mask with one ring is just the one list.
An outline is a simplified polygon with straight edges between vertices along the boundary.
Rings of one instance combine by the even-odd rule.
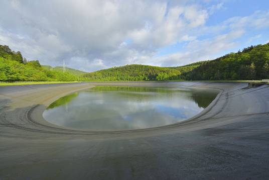
[[[72, 57], [90, 62], [103, 59], [107, 66], [117, 64], [111, 58], [121, 57], [117, 61], [124, 64], [136, 59], [128, 55], [148, 56], [166, 45], [195, 39], [187, 37], [186, 31], [203, 25], [208, 14], [186, 2], [168, 7], [162, 0], [7, 0], [0, 7], [0, 15], [6, 17], [0, 20], [0, 42], [43, 64], [57, 65], [62, 59], [68, 63]], [[132, 43], [124, 45], [128, 38]]]

